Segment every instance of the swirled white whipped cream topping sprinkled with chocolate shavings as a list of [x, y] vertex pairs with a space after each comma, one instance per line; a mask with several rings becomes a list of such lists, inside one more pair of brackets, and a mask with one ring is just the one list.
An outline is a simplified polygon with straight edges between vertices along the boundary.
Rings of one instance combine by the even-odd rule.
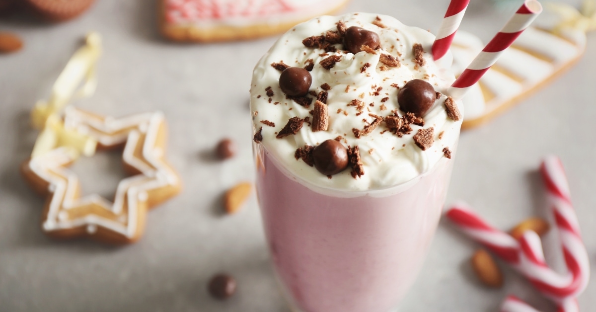
[[[378, 18], [374, 24], [373, 22]], [[327, 30], [336, 31], [336, 23], [343, 21], [346, 27], [358, 26], [377, 33], [381, 47], [375, 54], [361, 51], [356, 54], [342, 51], [342, 45], [336, 44], [336, 52], [327, 52], [319, 48], [307, 48], [302, 41], [311, 36], [324, 35]], [[411, 181], [429, 172], [439, 160], [443, 159], [443, 149], [448, 147], [455, 152], [460, 134], [461, 119], [452, 121], [445, 110], [444, 92], [455, 80], [449, 69], [451, 55], [443, 57], [441, 64], [434, 63], [430, 47], [434, 36], [426, 30], [405, 26], [390, 16], [370, 13], [354, 13], [343, 16], [321, 16], [299, 24], [289, 30], [271, 47], [257, 63], [253, 72], [250, 88], [250, 107], [254, 123], [254, 131], [262, 127], [262, 144], [269, 156], [273, 156], [288, 174], [307, 187], [344, 190], [374, 191], [383, 190]], [[424, 48], [426, 64], [417, 66], [414, 61], [412, 47], [421, 44]], [[398, 58], [399, 67], [384, 66], [380, 61], [381, 54], [391, 54]], [[330, 70], [319, 64], [331, 55], [340, 55]], [[312, 85], [310, 90], [318, 94], [323, 91], [321, 85], [328, 84], [327, 106], [330, 116], [327, 131], [313, 132], [308, 123], [304, 123], [297, 134], [284, 138], [276, 138], [277, 133], [293, 117], [305, 118], [312, 115], [309, 111], [313, 105], [303, 107], [299, 103], [286, 98], [279, 86], [280, 71], [271, 66], [272, 63], [283, 62], [289, 66], [304, 67], [309, 59], [314, 61], [312, 69]], [[449, 60], [449, 61], [444, 61]], [[365, 64], [370, 64], [366, 67]], [[439, 66], [440, 65], [440, 66]], [[410, 134], [398, 137], [387, 129], [382, 122], [368, 135], [356, 138], [352, 129], [363, 129], [374, 121], [369, 114], [386, 117], [399, 110], [398, 91], [412, 79], [423, 79], [433, 85], [435, 91], [443, 95], [424, 115], [424, 126], [411, 125]], [[393, 85], [393, 86], [392, 86]], [[266, 89], [271, 87], [273, 95], [267, 95]], [[271, 92], [269, 92], [271, 94]], [[312, 95], [308, 95], [312, 97]], [[271, 98], [271, 100], [270, 100]], [[315, 101], [313, 97], [313, 104]], [[349, 106], [350, 101], [360, 100], [364, 105], [363, 113], [358, 115], [358, 107]], [[456, 103], [460, 112], [462, 105]], [[365, 121], [363, 121], [365, 119]], [[264, 124], [275, 123], [275, 126]], [[434, 128], [434, 144], [421, 150], [414, 143], [414, 135], [418, 129]], [[302, 160], [296, 160], [294, 152], [305, 145], [317, 146], [328, 139], [342, 137], [344, 146], [358, 146], [364, 175], [353, 178], [347, 168], [332, 178], [318, 172]], [[440, 137], [440, 138], [439, 138]], [[451, 161], [451, 160], [450, 160]]]

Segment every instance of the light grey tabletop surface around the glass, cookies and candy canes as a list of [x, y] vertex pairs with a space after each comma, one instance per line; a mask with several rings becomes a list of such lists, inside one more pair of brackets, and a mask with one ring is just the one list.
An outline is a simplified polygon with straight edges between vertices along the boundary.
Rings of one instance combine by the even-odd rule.
[[[345, 11], [389, 14], [436, 32], [447, 3], [353, 0]], [[474, 0], [461, 29], [486, 42], [514, 7], [496, 10], [488, 0]], [[275, 38], [172, 44], [157, 32], [156, 11], [153, 0], [100, 0], [68, 23], [0, 21], [0, 30], [25, 42], [23, 51], [0, 56], [0, 311], [287, 311], [269, 267], [254, 196], [238, 214], [221, 214], [224, 190], [254, 177], [250, 75]], [[114, 116], [162, 110], [169, 121], [169, 159], [185, 184], [180, 196], [150, 212], [144, 237], [131, 246], [46, 238], [39, 229], [44, 200], [18, 174], [37, 135], [29, 126], [29, 110], [48, 96], [88, 30], [103, 35], [105, 52], [96, 94], [76, 104]], [[566, 166], [594, 267], [596, 38], [588, 39], [577, 66], [488, 125], [461, 135], [448, 202], [465, 199], [504, 229], [529, 216], [545, 216], [536, 168], [542, 156], [555, 153]], [[217, 162], [210, 151], [224, 136], [237, 141], [239, 152]], [[123, 177], [119, 162], [118, 153], [77, 162], [83, 193], [113, 196]], [[504, 265], [504, 287], [483, 288], [468, 265], [475, 248], [442, 221], [401, 311], [498, 311], [507, 294], [554, 311]], [[545, 249], [548, 261], [563, 268], [555, 231], [547, 235]], [[240, 284], [226, 302], [205, 291], [218, 271], [231, 273]], [[583, 311], [596, 310], [594, 283], [579, 302]]]

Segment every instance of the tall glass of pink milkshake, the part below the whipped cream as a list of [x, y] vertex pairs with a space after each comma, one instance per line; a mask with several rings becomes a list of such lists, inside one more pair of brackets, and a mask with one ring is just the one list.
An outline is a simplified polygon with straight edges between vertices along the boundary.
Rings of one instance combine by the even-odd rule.
[[253, 147], [269, 251], [294, 311], [395, 310], [426, 257], [453, 160], [377, 193], [321, 192]]

